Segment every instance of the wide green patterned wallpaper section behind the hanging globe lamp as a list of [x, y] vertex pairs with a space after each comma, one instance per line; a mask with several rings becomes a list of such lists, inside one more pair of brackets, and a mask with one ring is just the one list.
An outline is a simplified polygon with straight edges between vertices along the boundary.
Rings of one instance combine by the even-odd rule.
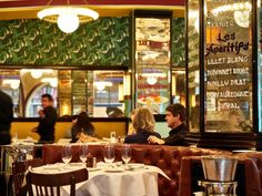
[[0, 21], [0, 64], [130, 65], [129, 18], [100, 18], [71, 33], [34, 20]]

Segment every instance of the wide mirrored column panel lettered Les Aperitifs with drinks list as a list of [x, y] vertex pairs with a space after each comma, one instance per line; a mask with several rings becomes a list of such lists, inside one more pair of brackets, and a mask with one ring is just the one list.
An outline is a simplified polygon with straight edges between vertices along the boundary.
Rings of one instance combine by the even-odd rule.
[[205, 6], [205, 131], [251, 132], [251, 1], [206, 0]]

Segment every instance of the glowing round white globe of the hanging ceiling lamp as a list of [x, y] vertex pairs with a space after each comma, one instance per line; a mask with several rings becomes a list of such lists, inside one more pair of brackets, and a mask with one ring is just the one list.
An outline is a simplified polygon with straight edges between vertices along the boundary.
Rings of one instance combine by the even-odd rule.
[[79, 27], [79, 18], [74, 13], [62, 13], [58, 17], [58, 27], [66, 33], [75, 31]]

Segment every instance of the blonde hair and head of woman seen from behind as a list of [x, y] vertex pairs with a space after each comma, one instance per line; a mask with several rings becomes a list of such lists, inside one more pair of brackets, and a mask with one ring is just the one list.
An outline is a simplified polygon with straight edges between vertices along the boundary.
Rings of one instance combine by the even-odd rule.
[[154, 132], [155, 121], [152, 112], [147, 107], [137, 109], [132, 125], [137, 132]]

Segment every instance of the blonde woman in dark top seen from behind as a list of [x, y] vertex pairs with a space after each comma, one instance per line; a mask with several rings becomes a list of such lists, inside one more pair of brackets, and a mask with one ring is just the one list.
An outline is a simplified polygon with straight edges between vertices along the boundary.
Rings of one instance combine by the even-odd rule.
[[124, 143], [147, 144], [148, 137], [150, 135], [161, 138], [160, 134], [154, 132], [154, 116], [147, 107], [140, 107], [135, 110], [132, 125], [137, 133], [133, 135], [128, 135], [124, 140]]

